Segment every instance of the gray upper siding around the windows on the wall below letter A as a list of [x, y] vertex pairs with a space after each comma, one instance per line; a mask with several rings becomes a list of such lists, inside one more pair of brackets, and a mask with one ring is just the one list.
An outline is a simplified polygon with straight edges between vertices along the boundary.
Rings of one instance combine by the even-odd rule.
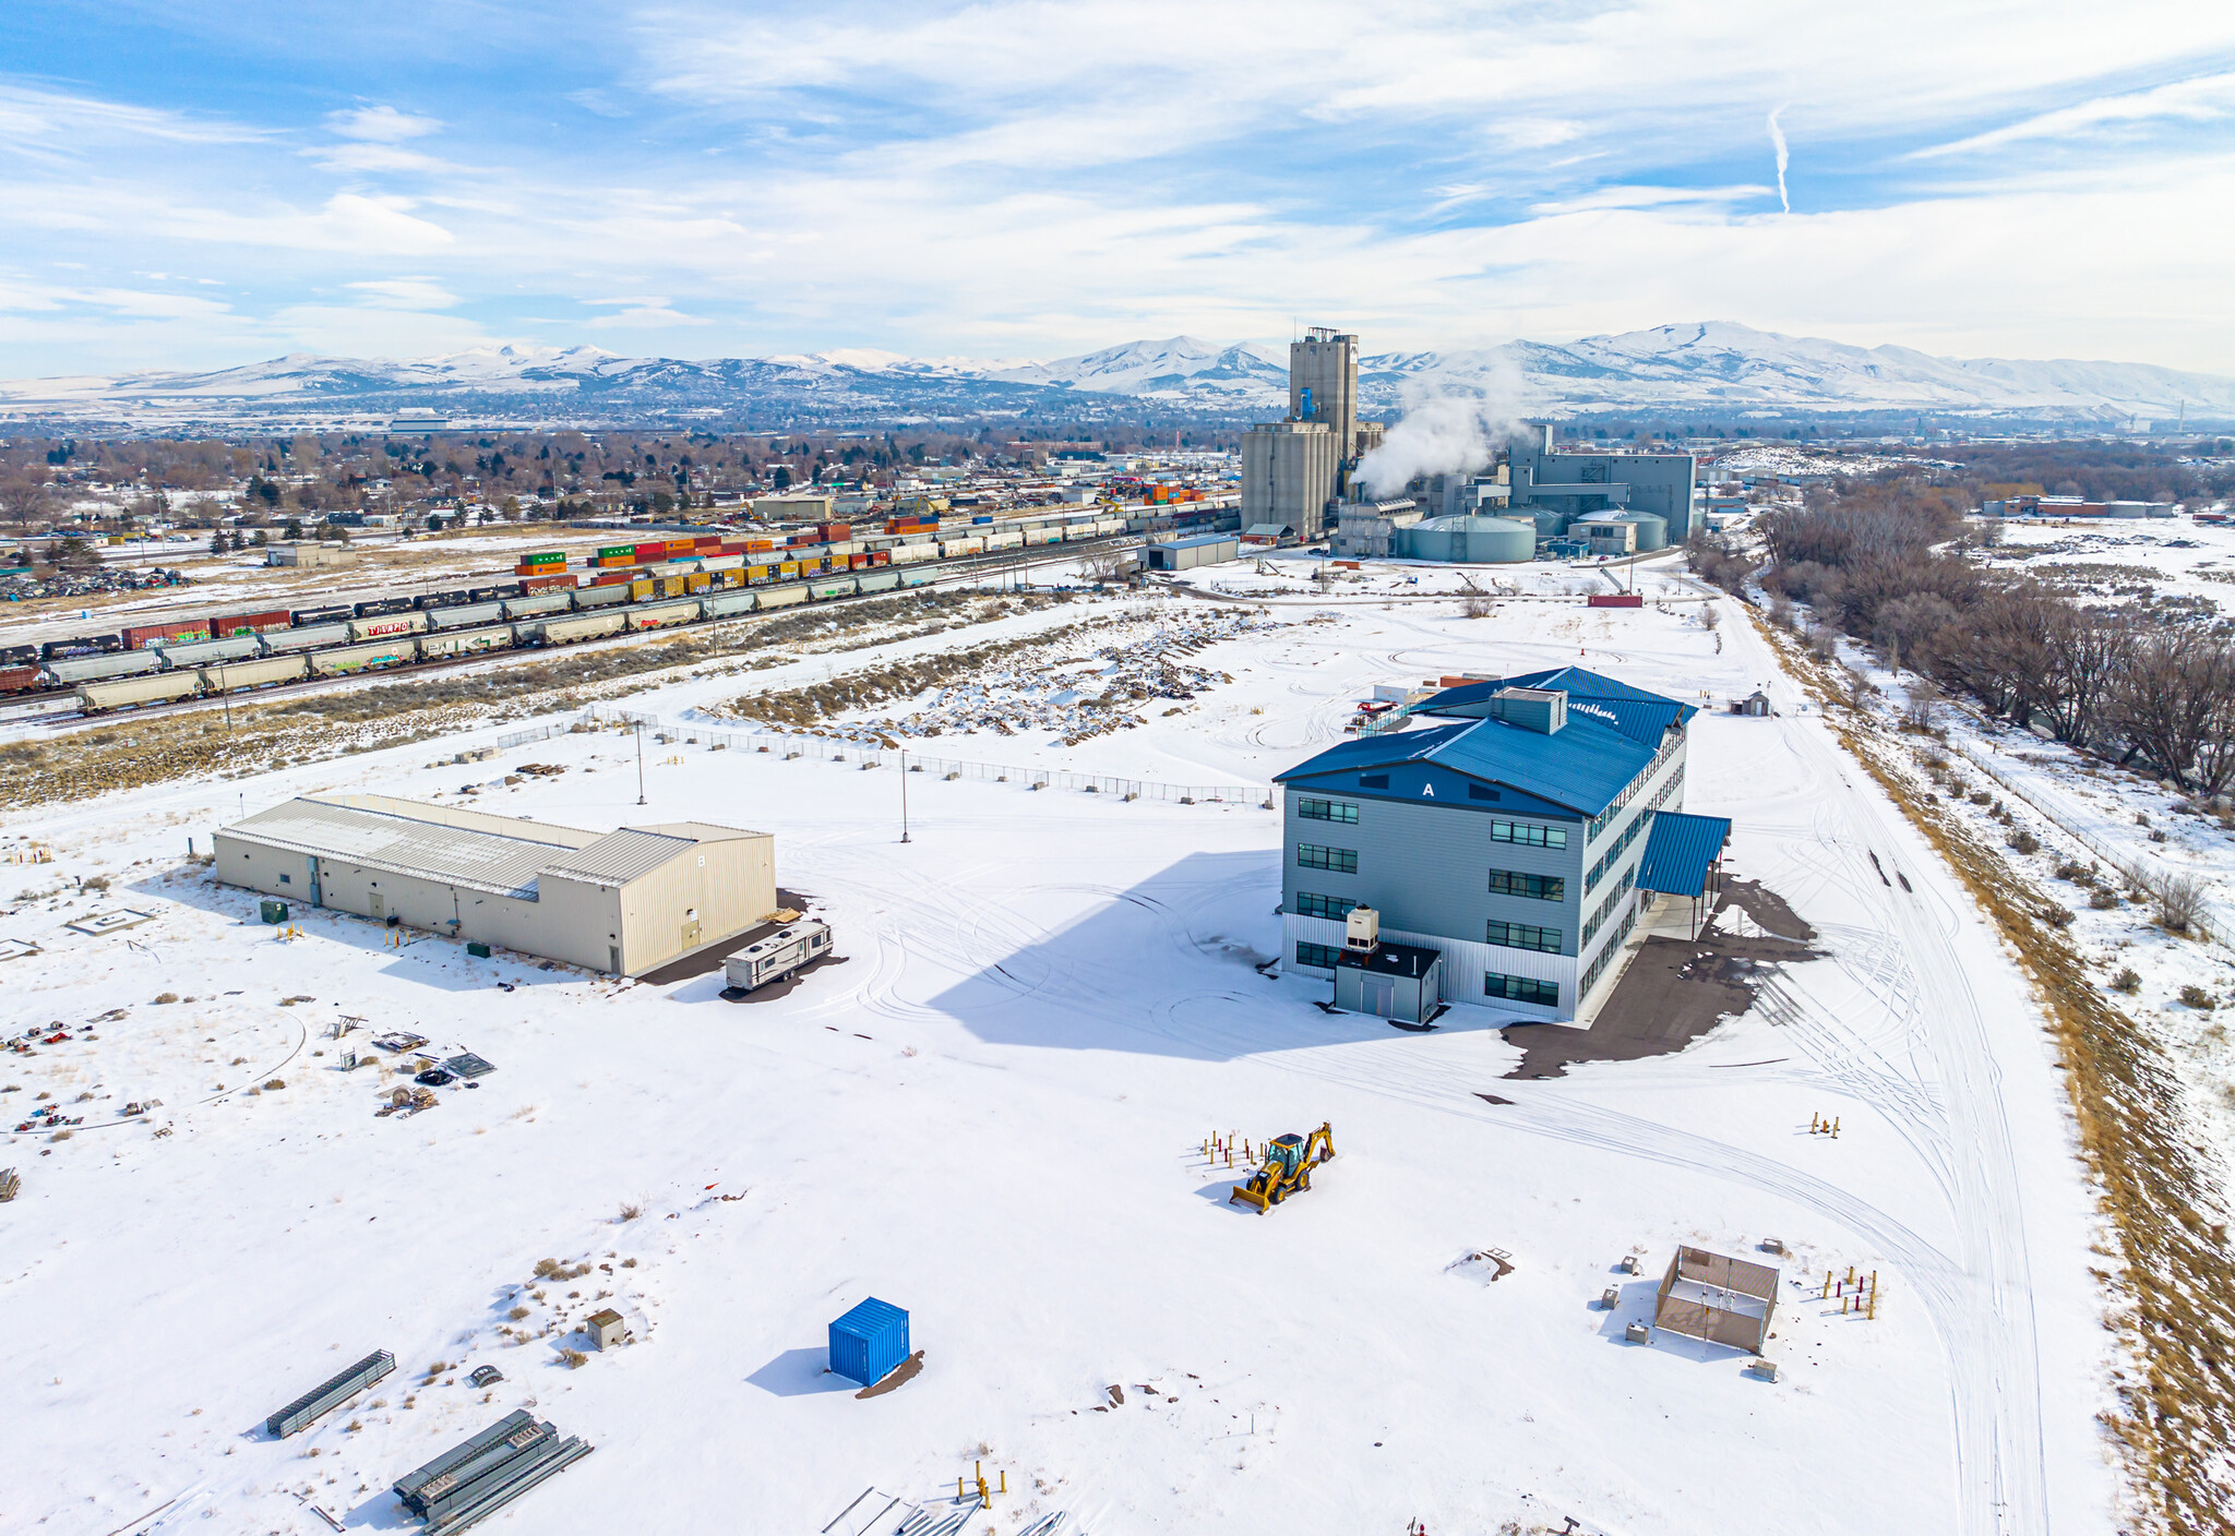
[[[1359, 808], [1357, 826], [1307, 822], [1296, 801], [1343, 799]], [[1486, 924], [1529, 922], [1560, 929], [1560, 953], [1576, 953], [1582, 929], [1582, 826], [1569, 826], [1567, 848], [1531, 848], [1491, 842], [1493, 815], [1484, 806], [1430, 806], [1345, 797], [1341, 790], [1290, 786], [1283, 808], [1281, 909], [1296, 911], [1296, 893], [1341, 895], [1381, 913], [1383, 929], [1437, 933], [1484, 942]], [[1359, 873], [1303, 868], [1299, 844], [1359, 851]], [[1538, 902], [1524, 895], [1491, 895], [1491, 871], [1560, 875], [1567, 897]], [[1480, 987], [1480, 978], [1475, 982]]]

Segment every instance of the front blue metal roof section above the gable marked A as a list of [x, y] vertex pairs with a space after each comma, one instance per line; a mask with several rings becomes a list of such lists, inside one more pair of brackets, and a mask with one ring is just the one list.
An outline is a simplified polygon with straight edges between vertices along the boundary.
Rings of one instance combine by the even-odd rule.
[[1437, 764], [1484, 784], [1506, 784], [1589, 817], [1614, 804], [1623, 786], [1654, 759], [1654, 750], [1656, 746], [1605, 721], [1573, 712], [1567, 717], [1567, 728], [1549, 737], [1527, 726], [1468, 719], [1343, 741], [1287, 772], [1274, 775], [1274, 784], [1397, 764]]

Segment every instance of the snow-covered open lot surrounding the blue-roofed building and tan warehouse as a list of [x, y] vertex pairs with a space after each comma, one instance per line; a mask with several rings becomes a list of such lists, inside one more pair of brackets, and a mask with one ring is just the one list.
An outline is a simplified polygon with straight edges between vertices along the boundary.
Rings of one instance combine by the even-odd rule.
[[[805, 1536], [874, 1485], [834, 1527], [858, 1532], [979, 1460], [1010, 1496], [970, 1529], [1004, 1534], [1055, 1509], [1091, 1532], [2110, 1529], [2112, 1335], [2047, 1036], [1750, 625], [1708, 630], [1696, 603], [1468, 618], [1357, 596], [1299, 594], [1205, 645], [1193, 665], [1234, 681], [1178, 714], [1142, 708], [1077, 748], [948, 732], [941, 750], [1263, 784], [1339, 739], [1375, 683], [1578, 661], [1708, 705], [1766, 685], [1781, 714], [1696, 721], [1687, 808], [1734, 817], [1734, 873], [1788, 897], [1824, 958], [1683, 1054], [1506, 1081], [1520, 1052], [1489, 1009], [1401, 1034], [1256, 971], [1278, 947], [1281, 824], [1252, 806], [925, 775], [901, 844], [892, 772], [668, 746], [639, 808], [628, 737], [427, 766], [494, 735], [474, 732], [22, 815], [0, 848], [54, 862], [7, 871], [0, 940], [40, 947], [0, 971], [7, 1034], [72, 1038], [7, 1056], [0, 1105], [13, 1125], [45, 1092], [83, 1125], [0, 1148], [25, 1179], [0, 1206], [0, 1529], [326, 1529], [297, 1496], [405, 1529], [387, 1485], [514, 1407], [597, 1453], [492, 1532]], [[633, 708], [708, 719], [738, 692], [675, 681]], [[565, 772], [492, 779], [521, 761]], [[845, 962], [731, 1005], [720, 976], [391, 949], [329, 913], [279, 938], [183, 864], [241, 806], [449, 797], [460, 777], [485, 810], [588, 828], [771, 831], [778, 880]], [[76, 891], [96, 875], [112, 889]], [[63, 927], [116, 906], [152, 922]], [[329, 1038], [344, 1016], [362, 1029]], [[382, 1029], [498, 1069], [375, 1119], [389, 1074], [337, 1060]], [[1837, 1141], [1808, 1134], [1817, 1114]], [[1227, 1206], [1207, 1134], [1321, 1121], [1339, 1159], [1307, 1197]], [[1790, 1248], [1781, 1380], [1623, 1342], [1676, 1244], [1759, 1259], [1763, 1237]], [[1468, 1261], [1493, 1248], [1497, 1279]], [[541, 1259], [590, 1268], [539, 1281]], [[1875, 1319], [1819, 1302], [1848, 1266], [1877, 1273]], [[1607, 1286], [1620, 1304], [1596, 1311]], [[825, 1324], [865, 1295], [910, 1308], [925, 1351], [874, 1400], [822, 1375]], [[597, 1306], [637, 1340], [568, 1369]], [[393, 1377], [264, 1438], [371, 1348], [396, 1351]], [[505, 1380], [467, 1386], [478, 1364]]]

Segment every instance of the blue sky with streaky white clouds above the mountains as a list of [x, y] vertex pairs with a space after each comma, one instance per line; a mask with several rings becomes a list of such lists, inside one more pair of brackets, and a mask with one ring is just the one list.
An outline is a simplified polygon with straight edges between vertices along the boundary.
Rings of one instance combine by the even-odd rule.
[[2235, 373], [2235, 7], [9, 0], [0, 208], [7, 377], [1299, 319]]

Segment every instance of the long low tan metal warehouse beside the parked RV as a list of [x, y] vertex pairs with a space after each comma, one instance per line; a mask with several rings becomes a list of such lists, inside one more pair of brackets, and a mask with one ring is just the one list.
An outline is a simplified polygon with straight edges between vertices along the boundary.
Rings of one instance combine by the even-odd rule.
[[389, 795], [304, 795], [215, 839], [266, 895], [633, 976], [776, 911], [776, 839], [706, 822], [572, 826]]

